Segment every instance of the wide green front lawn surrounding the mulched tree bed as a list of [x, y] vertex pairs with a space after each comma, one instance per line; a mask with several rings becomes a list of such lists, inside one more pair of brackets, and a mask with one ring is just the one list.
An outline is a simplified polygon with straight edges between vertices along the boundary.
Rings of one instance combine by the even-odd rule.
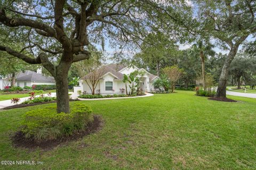
[[237, 103], [198, 97], [192, 91], [152, 97], [75, 101], [102, 115], [97, 133], [53, 150], [14, 148], [9, 135], [34, 108], [0, 112], [1, 160], [44, 165], [2, 169], [256, 169], [256, 99]]

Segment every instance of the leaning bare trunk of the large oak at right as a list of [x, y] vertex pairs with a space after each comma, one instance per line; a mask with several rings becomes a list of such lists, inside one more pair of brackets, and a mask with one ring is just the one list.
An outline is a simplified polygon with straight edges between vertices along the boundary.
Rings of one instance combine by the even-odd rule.
[[230, 52], [228, 53], [228, 56], [223, 64], [222, 71], [219, 78], [219, 86], [217, 89], [216, 96], [217, 98], [227, 98], [226, 97], [226, 86], [227, 86], [227, 77], [229, 72], [229, 67], [231, 62], [233, 61], [236, 53], [238, 50], [238, 46], [232, 47], [230, 49]]

